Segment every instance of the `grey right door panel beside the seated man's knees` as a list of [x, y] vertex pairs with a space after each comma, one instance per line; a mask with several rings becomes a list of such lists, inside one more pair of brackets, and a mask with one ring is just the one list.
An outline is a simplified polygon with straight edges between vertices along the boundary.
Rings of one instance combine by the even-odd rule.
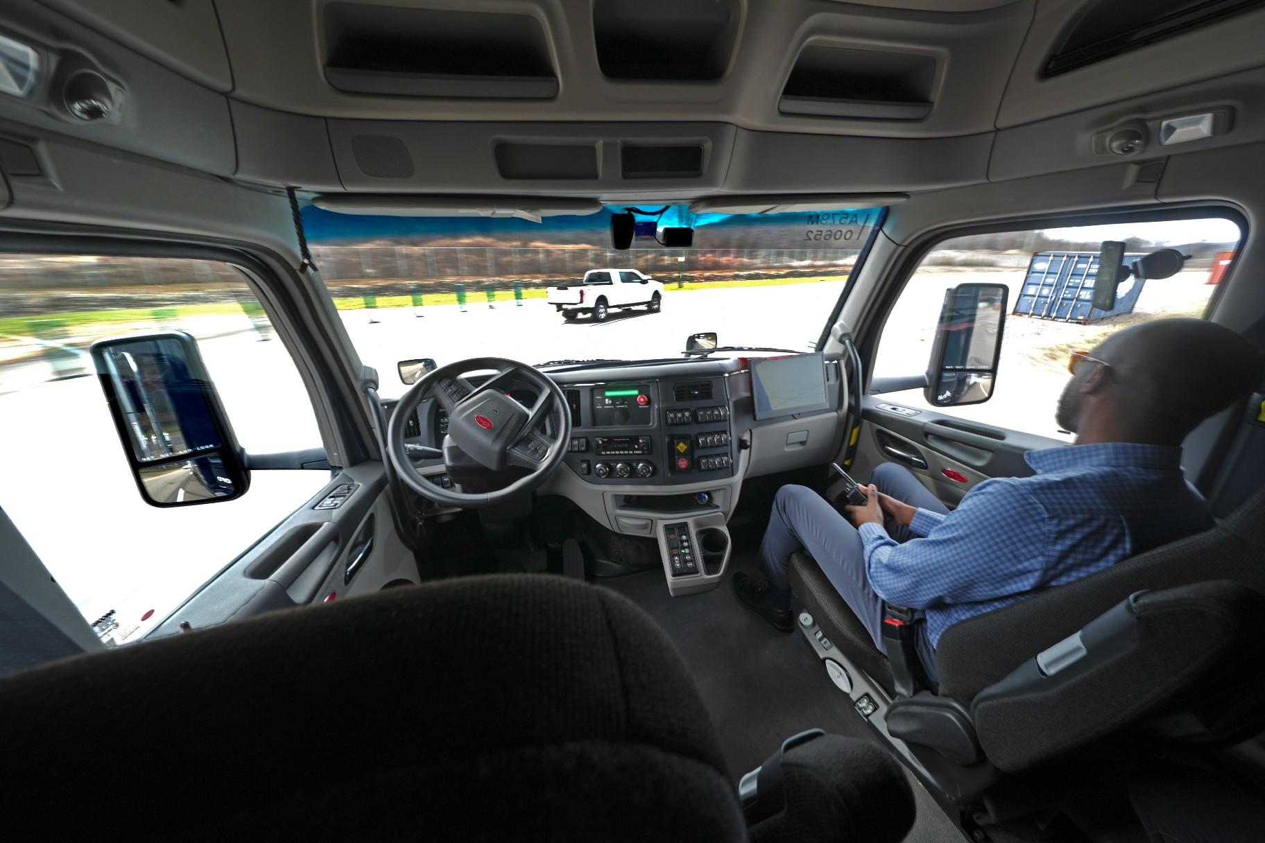
[[945, 504], [954, 507], [977, 484], [1028, 476], [1025, 454], [1065, 445], [1059, 440], [965, 421], [931, 409], [861, 398], [861, 436], [853, 468], [858, 480], [879, 463], [899, 463]]

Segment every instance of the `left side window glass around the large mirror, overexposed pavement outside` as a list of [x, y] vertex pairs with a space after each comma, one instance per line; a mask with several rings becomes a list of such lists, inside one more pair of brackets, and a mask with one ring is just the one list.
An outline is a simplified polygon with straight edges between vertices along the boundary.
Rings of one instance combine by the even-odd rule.
[[243, 276], [210, 260], [0, 255], [0, 507], [108, 643], [135, 641], [329, 480], [256, 471], [214, 507], [137, 492], [89, 346], [197, 339], [242, 447], [319, 447], [293, 360]]

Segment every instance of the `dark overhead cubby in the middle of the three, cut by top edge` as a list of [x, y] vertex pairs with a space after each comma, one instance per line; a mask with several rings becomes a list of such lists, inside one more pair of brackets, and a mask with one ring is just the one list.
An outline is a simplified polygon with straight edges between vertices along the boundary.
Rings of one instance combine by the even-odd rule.
[[737, 0], [593, 0], [597, 63], [615, 80], [719, 80], [739, 18]]

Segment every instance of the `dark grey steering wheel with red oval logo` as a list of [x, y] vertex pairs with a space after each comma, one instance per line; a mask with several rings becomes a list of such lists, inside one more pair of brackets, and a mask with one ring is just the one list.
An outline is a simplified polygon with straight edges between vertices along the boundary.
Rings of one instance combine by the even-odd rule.
[[[488, 369], [496, 374], [478, 387], [462, 377]], [[503, 391], [505, 384], [517, 378], [540, 391], [531, 407]], [[441, 450], [405, 436], [407, 420], [431, 393], [448, 412], [448, 436]], [[546, 418], [553, 421], [553, 436], [538, 430]], [[525, 363], [503, 358], [471, 358], [426, 373], [400, 398], [387, 426], [387, 455], [400, 479], [424, 498], [466, 509], [503, 503], [536, 488], [562, 463], [569, 441], [571, 412], [558, 384]], [[468, 459], [462, 459], [463, 455]], [[469, 466], [473, 460], [488, 471], [517, 468], [528, 474], [493, 492], [457, 492], [431, 483], [414, 464], [414, 459], [439, 456], [450, 473], [453, 465]]]

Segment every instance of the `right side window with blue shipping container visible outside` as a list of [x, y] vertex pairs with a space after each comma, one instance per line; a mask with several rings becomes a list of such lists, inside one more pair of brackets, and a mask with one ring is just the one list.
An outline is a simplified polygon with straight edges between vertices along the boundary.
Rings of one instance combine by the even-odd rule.
[[[1008, 289], [997, 382], [990, 398], [969, 406], [932, 407], [922, 389], [884, 399], [935, 409], [996, 427], [1071, 441], [1058, 428], [1055, 404], [1073, 351], [1088, 351], [1112, 332], [1146, 320], [1202, 317], [1228, 269], [1241, 231], [1221, 217], [1089, 225], [970, 235], [930, 252], [888, 315], [874, 378], [921, 374], [929, 368], [945, 291], [964, 283]], [[1188, 255], [1171, 278], [1128, 278], [1116, 307], [1092, 308], [1092, 272], [1106, 240], [1125, 243], [1125, 263], [1157, 249]]]

